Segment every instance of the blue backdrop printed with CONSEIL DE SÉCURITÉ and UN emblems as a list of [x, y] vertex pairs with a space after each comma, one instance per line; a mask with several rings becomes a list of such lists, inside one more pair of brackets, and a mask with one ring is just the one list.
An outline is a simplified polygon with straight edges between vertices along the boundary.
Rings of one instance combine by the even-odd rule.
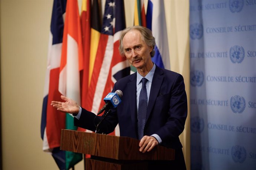
[[256, 169], [255, 16], [255, 0], [190, 0], [192, 170]]

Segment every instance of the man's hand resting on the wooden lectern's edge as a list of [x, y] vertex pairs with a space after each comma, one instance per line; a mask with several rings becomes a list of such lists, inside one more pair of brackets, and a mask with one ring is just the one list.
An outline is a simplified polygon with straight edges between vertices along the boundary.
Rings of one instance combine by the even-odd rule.
[[158, 145], [157, 139], [153, 136], [143, 136], [139, 146], [140, 146], [140, 152], [145, 153], [150, 152], [155, 146]]

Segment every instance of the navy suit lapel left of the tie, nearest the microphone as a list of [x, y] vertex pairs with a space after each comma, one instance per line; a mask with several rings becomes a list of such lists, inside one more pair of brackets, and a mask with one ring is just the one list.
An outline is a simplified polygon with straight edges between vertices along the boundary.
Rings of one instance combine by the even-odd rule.
[[136, 72], [131, 76], [130, 82], [127, 84], [128, 86], [128, 96], [129, 96], [129, 106], [131, 106], [131, 120], [135, 129], [137, 127], [137, 99], [136, 99], [136, 86], [137, 74]]

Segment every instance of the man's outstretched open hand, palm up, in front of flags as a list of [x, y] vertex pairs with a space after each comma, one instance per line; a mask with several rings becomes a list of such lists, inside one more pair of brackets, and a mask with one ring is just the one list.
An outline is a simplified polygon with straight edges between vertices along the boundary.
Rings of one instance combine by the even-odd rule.
[[54, 108], [57, 108], [57, 110], [65, 113], [77, 114], [79, 112], [79, 105], [75, 101], [65, 96], [60, 96], [60, 98], [66, 102], [52, 101], [51, 105]]

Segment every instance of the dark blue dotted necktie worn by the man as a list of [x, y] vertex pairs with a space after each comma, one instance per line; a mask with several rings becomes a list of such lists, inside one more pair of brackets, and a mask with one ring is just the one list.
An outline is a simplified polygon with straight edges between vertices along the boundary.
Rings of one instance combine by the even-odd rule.
[[142, 88], [140, 92], [140, 98], [139, 98], [139, 108], [138, 108], [138, 139], [141, 140], [141, 138], [144, 136], [144, 126], [146, 121], [146, 115], [147, 115], [147, 106], [148, 106], [148, 94], [147, 94], [147, 79], [144, 77], [142, 80]]

